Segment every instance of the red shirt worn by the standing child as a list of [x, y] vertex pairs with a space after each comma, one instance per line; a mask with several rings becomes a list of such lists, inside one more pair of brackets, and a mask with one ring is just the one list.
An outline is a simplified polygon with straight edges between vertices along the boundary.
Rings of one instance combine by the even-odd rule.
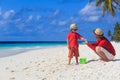
[[78, 39], [81, 39], [82, 36], [76, 32], [70, 32], [67, 35], [67, 39], [68, 39], [68, 44], [70, 47], [72, 48], [78, 48], [79, 44], [78, 44]]

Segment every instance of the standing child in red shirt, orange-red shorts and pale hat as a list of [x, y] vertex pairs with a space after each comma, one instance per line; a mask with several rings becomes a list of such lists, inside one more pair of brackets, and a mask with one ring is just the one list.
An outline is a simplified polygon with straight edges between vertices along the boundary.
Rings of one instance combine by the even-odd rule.
[[70, 65], [71, 58], [75, 56], [76, 59], [76, 65], [78, 63], [78, 57], [79, 57], [79, 44], [78, 44], [78, 39], [86, 41], [85, 38], [83, 38], [80, 34], [76, 32], [78, 30], [78, 27], [76, 24], [71, 24], [70, 25], [70, 32], [67, 35], [67, 46], [68, 46], [68, 65]]

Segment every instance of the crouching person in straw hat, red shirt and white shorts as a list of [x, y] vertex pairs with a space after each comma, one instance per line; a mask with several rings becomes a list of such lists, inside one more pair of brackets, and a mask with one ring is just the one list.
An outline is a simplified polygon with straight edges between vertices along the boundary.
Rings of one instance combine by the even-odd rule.
[[104, 37], [104, 33], [102, 29], [96, 28], [93, 30], [94, 36], [96, 38], [96, 42], [89, 43], [85, 42], [88, 47], [95, 51], [95, 53], [103, 60], [110, 61], [116, 55], [115, 49], [110, 43], [110, 41]]

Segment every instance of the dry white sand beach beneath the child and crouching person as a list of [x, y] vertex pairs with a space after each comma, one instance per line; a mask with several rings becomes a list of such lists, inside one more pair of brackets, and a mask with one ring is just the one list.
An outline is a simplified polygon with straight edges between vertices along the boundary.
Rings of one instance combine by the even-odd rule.
[[67, 47], [33, 50], [0, 58], [0, 80], [120, 80], [120, 43], [112, 42], [117, 55], [102, 62], [86, 45], [80, 45], [80, 57], [87, 64], [67, 65]]

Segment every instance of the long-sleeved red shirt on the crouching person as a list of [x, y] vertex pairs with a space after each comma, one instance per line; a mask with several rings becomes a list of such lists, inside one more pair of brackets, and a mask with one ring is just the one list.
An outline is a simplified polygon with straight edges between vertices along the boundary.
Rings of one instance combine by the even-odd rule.
[[106, 49], [108, 52], [110, 52], [113, 56], [116, 55], [114, 47], [112, 46], [110, 41], [108, 41], [105, 37], [103, 37], [101, 40], [96, 41], [92, 44], [88, 43], [87, 45], [94, 51], [96, 49], [96, 46], [101, 46], [104, 49]]

